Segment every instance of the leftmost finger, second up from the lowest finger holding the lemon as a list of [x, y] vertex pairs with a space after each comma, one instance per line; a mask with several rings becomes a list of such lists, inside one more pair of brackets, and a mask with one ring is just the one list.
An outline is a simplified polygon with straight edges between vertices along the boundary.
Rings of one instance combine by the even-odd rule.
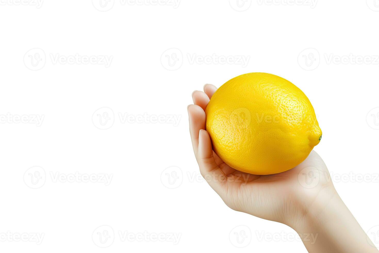
[[195, 156], [199, 145], [199, 131], [205, 129], [205, 112], [198, 105], [188, 105], [189, 134]]

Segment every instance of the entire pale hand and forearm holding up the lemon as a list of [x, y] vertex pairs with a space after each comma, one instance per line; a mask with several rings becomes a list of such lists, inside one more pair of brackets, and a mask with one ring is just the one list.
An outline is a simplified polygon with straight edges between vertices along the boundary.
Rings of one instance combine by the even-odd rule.
[[[247, 174], [224, 163], [205, 130], [205, 108], [216, 90], [207, 84], [204, 92], [192, 93], [189, 132], [200, 173], [227, 206], [290, 226], [310, 253], [379, 252], [327, 180], [329, 171], [315, 151], [295, 168], [272, 175]], [[307, 185], [302, 175], [316, 183]], [[309, 234], [316, 240], [307, 239]]]

